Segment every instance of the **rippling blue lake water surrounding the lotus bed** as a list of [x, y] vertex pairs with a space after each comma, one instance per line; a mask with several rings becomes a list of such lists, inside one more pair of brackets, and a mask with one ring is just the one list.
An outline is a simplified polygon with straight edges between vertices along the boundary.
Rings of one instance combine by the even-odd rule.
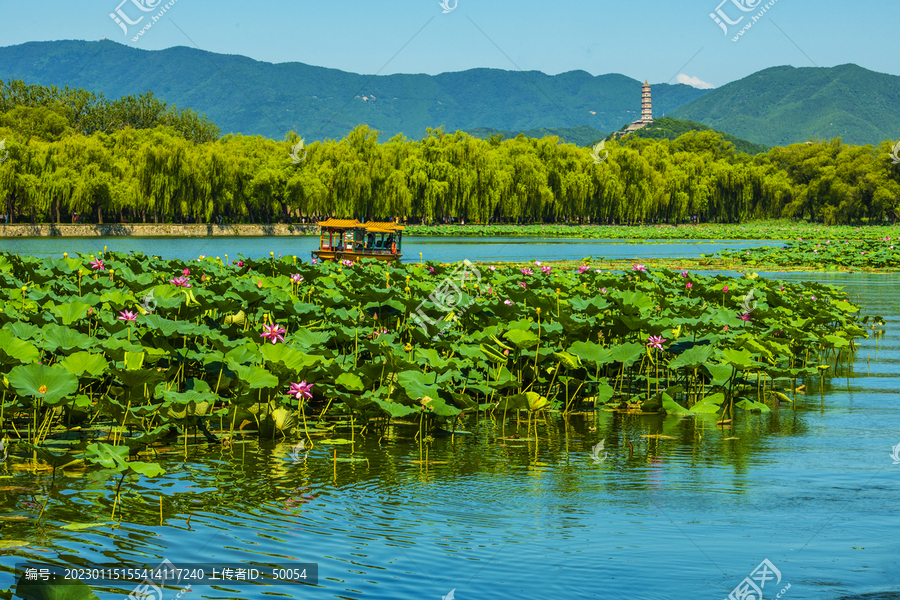
[[[39, 241], [61, 243], [42, 246], [47, 252], [73, 251], [71, 239]], [[113, 240], [89, 241], [115, 248]], [[263, 241], [261, 255], [272, 247], [271, 238]], [[677, 256], [712, 251], [503, 241], [454, 239], [446, 247], [410, 240], [407, 252], [549, 260], [619, 251], [640, 258], [667, 246], [681, 248]], [[153, 253], [187, 252], [175, 249], [185, 242], [196, 240], [166, 240]], [[31, 544], [2, 551], [0, 589], [26, 559], [130, 566], [165, 558], [176, 565], [318, 565], [315, 586], [197, 587], [189, 599], [413, 600], [452, 590], [459, 600], [721, 600], [768, 560], [780, 580], [768, 582], [766, 599], [788, 584], [782, 597], [789, 599], [898, 599], [900, 464], [891, 458], [900, 444], [897, 275], [770, 276], [846, 286], [867, 314], [887, 321], [883, 336], [861, 342], [849, 374], [826, 378], [824, 389], [810, 382], [793, 408], [742, 413], [733, 430], [704, 417], [551, 414], [531, 441], [524, 422], [470, 416], [464, 433], [435, 436], [429, 464], [415, 426], [392, 426], [384, 437], [339, 429], [336, 437], [352, 443], [317, 444], [301, 463], [289, 455], [297, 440], [248, 437], [229, 448], [189, 445], [186, 455], [179, 441], [161, 449], [165, 476], [126, 486], [115, 526], [102, 525], [113, 497], [105, 477], [57, 475], [36, 527], [33, 495], [49, 488], [49, 473], [0, 467], [0, 541]], [[520, 439], [510, 439], [514, 434]], [[667, 437], [647, 437], [660, 435]], [[598, 463], [589, 451], [600, 440], [606, 456]], [[100, 525], [62, 529], [73, 522]], [[124, 591], [97, 593], [105, 600], [131, 589]]]

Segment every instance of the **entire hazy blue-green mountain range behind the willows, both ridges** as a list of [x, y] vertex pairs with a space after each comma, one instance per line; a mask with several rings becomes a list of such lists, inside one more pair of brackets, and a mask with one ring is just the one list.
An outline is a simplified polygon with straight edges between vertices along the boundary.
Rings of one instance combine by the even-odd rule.
[[[589, 143], [593, 131], [599, 139], [636, 120], [641, 97], [641, 82], [620, 74], [471, 69], [372, 76], [108, 40], [2, 47], [0, 79], [81, 87], [107, 98], [150, 90], [205, 113], [223, 133], [284, 139], [293, 130], [308, 141], [341, 138], [365, 123], [382, 139], [419, 139], [443, 126], [475, 135], [566, 130]], [[772, 67], [713, 90], [663, 83], [652, 92], [655, 116], [696, 121], [754, 144], [838, 136], [875, 144], [900, 135], [900, 77], [856, 65]]]

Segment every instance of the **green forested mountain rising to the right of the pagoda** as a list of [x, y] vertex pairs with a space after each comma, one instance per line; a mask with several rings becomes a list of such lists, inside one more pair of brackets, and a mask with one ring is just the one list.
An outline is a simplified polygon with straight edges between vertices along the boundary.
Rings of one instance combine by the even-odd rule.
[[772, 67], [668, 114], [757, 144], [840, 137], [878, 144], [900, 135], [900, 77], [857, 65]]

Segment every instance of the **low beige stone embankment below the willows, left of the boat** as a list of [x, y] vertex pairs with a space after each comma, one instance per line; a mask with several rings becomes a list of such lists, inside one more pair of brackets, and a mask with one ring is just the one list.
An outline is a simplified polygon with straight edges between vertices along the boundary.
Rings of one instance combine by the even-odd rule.
[[209, 237], [209, 236], [268, 236], [268, 235], [317, 235], [315, 224], [282, 223], [271, 225], [177, 225], [171, 223], [104, 223], [103, 225], [56, 225], [42, 223], [30, 225], [15, 223], [0, 224], [0, 237]]

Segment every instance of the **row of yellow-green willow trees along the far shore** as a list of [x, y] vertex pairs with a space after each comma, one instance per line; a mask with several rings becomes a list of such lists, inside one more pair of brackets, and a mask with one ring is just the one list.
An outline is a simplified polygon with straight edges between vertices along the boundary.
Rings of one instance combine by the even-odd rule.
[[78, 213], [79, 222], [95, 223], [333, 215], [838, 224], [893, 221], [900, 213], [900, 165], [890, 142], [851, 146], [837, 138], [750, 156], [703, 131], [671, 141], [629, 136], [592, 154], [556, 137], [481, 140], [442, 129], [381, 142], [361, 125], [341, 140], [298, 148], [294, 160], [295, 132], [282, 141], [220, 137], [205, 117], [146, 94], [79, 104], [84, 94], [0, 87], [0, 212], [10, 222], [68, 223]]

